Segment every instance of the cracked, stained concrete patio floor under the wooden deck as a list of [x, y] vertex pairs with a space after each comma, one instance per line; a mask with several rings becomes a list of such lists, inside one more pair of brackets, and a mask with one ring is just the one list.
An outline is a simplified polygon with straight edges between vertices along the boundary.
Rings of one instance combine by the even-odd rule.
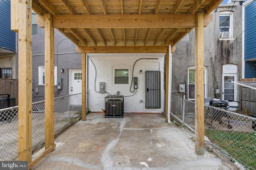
[[[59, 135], [32, 170], [233, 170], [217, 152], [195, 153], [194, 134], [160, 113], [89, 113]], [[211, 150], [211, 149], [210, 149]], [[215, 150], [215, 149], [213, 149]]]

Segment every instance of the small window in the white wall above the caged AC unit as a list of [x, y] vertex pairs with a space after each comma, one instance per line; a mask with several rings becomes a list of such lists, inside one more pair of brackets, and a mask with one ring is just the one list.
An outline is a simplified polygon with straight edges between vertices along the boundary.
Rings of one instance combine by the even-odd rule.
[[114, 84], [129, 84], [129, 69], [115, 68], [114, 69]]

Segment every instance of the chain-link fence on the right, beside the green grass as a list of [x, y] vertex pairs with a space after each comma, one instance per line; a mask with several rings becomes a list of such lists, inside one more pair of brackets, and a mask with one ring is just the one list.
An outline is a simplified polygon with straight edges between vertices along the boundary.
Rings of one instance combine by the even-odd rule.
[[[204, 105], [204, 139], [240, 170], [256, 169], [256, 118], [229, 111], [230, 107]], [[195, 131], [195, 103], [172, 96], [171, 117]]]

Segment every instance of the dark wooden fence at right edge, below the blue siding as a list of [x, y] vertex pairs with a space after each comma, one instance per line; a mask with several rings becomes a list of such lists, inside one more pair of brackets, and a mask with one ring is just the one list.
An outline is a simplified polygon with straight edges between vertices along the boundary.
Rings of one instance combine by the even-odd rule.
[[[256, 82], [256, 78], [245, 78], [243, 82]], [[248, 115], [256, 116], [256, 90], [242, 86], [241, 107]]]

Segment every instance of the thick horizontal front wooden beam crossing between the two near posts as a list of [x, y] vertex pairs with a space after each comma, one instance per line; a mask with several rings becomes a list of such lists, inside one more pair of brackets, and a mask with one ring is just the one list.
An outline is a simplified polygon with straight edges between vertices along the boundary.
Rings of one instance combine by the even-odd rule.
[[[212, 14], [204, 16], [204, 26], [212, 21]], [[36, 16], [36, 23], [44, 27], [44, 17]], [[132, 24], [131, 24], [132, 23]], [[194, 14], [162, 15], [54, 15], [55, 28], [176, 28], [196, 27]]]

